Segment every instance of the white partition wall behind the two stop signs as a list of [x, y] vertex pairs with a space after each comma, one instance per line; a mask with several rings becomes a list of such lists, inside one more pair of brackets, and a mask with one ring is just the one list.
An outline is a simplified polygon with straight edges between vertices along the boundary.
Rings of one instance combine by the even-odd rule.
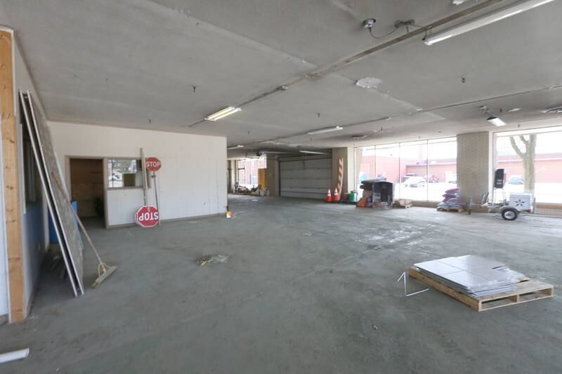
[[[92, 158], [155, 156], [162, 161], [157, 172], [162, 220], [226, 212], [226, 138], [49, 122], [61, 165], [67, 157]], [[63, 166], [68, 181], [68, 168]], [[154, 186], [149, 203], [155, 203]], [[107, 191], [107, 225], [134, 222], [143, 205], [142, 189]]]

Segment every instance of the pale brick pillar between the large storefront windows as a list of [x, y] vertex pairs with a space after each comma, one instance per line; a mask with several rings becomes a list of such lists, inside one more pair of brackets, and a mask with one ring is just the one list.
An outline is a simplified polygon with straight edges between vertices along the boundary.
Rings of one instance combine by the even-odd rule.
[[457, 185], [464, 202], [472, 197], [479, 204], [490, 191], [492, 176], [492, 133], [457, 135]]

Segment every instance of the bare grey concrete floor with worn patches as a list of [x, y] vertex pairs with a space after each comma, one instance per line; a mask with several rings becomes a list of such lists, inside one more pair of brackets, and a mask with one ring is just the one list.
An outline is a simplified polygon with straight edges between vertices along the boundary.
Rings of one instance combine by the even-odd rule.
[[[556, 293], [561, 219], [230, 202], [234, 220], [91, 228], [119, 270], [78, 299], [44, 274], [30, 319], [0, 327], [0, 352], [31, 354], [1, 373], [562, 373], [558, 295], [478, 313], [396, 283], [414, 262], [472, 253]], [[216, 253], [228, 262], [195, 264]]]

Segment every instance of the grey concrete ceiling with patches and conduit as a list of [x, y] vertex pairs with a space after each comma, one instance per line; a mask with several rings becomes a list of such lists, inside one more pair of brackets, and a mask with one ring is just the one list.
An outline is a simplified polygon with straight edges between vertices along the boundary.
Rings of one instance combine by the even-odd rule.
[[[542, 109], [562, 105], [560, 0], [433, 46], [422, 43], [423, 35], [408, 39], [301, 79], [226, 119], [201, 122], [380, 44], [361, 28], [365, 18], [377, 18], [374, 33], [382, 35], [396, 20], [428, 25], [478, 3], [484, 1], [0, 0], [0, 22], [16, 30], [46, 115], [56, 121], [225, 135], [244, 149], [380, 144], [490, 129], [481, 105], [507, 128], [554, 124], [556, 114]], [[382, 83], [355, 86], [366, 76]], [[513, 107], [521, 110], [508, 113]], [[344, 131], [306, 135], [336, 125]]]

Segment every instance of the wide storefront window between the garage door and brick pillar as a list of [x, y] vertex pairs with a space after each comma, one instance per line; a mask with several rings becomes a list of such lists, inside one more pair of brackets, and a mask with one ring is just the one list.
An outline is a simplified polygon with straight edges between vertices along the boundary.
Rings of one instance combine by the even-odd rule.
[[358, 147], [355, 165], [358, 191], [362, 180], [379, 178], [394, 182], [396, 199], [441, 201], [457, 187], [457, 139]]

